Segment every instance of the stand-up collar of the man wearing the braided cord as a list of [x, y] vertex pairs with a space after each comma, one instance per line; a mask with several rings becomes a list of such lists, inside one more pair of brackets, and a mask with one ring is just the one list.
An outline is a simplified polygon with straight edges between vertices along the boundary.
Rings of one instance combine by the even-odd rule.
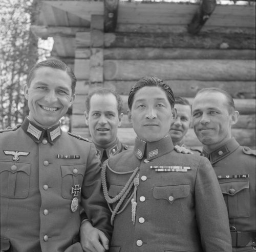
[[172, 152], [173, 149], [173, 141], [169, 135], [156, 142], [145, 142], [136, 137], [133, 152], [138, 159], [146, 157], [147, 160], [152, 160]]

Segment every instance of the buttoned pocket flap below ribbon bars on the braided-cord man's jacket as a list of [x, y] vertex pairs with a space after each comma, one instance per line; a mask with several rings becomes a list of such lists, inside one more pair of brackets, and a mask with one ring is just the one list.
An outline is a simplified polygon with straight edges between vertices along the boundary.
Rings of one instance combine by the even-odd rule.
[[173, 185], [154, 187], [153, 195], [155, 198], [174, 201], [177, 198], [185, 198], [189, 195], [190, 185]]

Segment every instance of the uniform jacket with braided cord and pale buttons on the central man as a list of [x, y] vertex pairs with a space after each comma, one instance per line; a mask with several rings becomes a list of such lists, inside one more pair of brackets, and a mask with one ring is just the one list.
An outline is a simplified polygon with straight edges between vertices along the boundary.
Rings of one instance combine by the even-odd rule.
[[110, 252], [232, 250], [227, 210], [209, 161], [173, 150], [170, 136], [148, 143], [136, 138], [134, 150], [103, 164], [104, 195], [117, 212]]

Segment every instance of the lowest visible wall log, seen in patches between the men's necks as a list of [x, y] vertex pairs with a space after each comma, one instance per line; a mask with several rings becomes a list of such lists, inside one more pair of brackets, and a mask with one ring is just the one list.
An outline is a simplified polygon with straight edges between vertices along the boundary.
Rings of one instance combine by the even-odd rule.
[[[72, 128], [72, 133], [91, 139], [88, 128]], [[134, 145], [136, 134], [133, 128], [119, 128], [117, 136], [122, 143]], [[232, 129], [232, 136], [237, 139], [240, 145], [255, 146], [255, 130]], [[193, 129], [188, 130], [184, 141], [187, 146], [201, 146]]]

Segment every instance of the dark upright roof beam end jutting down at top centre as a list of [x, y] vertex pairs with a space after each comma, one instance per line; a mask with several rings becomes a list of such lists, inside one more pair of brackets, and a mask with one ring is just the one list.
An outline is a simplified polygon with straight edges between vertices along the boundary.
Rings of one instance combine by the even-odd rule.
[[119, 0], [104, 0], [104, 32], [115, 32]]

